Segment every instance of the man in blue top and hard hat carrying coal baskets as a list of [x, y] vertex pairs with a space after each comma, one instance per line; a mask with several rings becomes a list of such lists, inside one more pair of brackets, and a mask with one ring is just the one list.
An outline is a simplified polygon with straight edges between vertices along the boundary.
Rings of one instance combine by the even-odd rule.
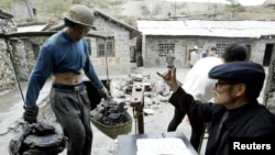
[[26, 90], [23, 119], [35, 123], [40, 90], [52, 75], [50, 101], [68, 137], [67, 155], [91, 154], [90, 101], [81, 70], [103, 98], [110, 98], [91, 65], [84, 38], [90, 29], [95, 29], [94, 20], [94, 13], [81, 4], [73, 5], [64, 14], [65, 29], [51, 36], [41, 47]]

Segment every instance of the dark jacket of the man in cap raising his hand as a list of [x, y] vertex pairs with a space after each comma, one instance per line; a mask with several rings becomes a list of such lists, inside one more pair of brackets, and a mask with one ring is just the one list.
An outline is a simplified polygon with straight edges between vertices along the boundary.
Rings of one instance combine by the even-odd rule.
[[[235, 137], [260, 137], [275, 140], [275, 115], [256, 100], [234, 110], [213, 103], [195, 101], [184, 89], [173, 93], [169, 102], [188, 114], [188, 118], [208, 123], [208, 143], [206, 155], [229, 155], [230, 140]], [[217, 131], [222, 115], [228, 112], [224, 131], [217, 140]], [[194, 128], [194, 126], [193, 126]]]

